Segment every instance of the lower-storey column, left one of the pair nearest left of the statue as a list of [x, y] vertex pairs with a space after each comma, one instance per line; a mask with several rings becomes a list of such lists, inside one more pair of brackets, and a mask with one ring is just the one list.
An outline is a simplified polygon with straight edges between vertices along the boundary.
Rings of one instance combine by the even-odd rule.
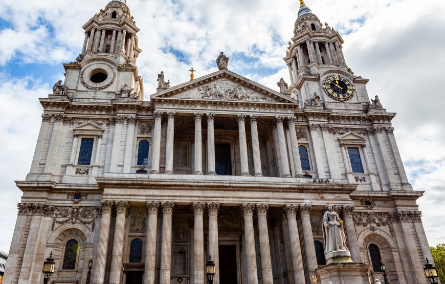
[[289, 228], [289, 241], [291, 243], [292, 266], [294, 268], [295, 284], [305, 284], [303, 259], [300, 249], [300, 237], [298, 235], [297, 214], [295, 205], [286, 205], [284, 212], [287, 215], [287, 226]]

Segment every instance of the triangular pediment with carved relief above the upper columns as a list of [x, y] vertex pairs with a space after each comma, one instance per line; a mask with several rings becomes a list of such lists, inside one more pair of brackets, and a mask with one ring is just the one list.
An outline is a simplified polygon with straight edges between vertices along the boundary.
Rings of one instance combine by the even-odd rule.
[[151, 99], [219, 100], [259, 103], [297, 101], [228, 70], [220, 70], [151, 95]]

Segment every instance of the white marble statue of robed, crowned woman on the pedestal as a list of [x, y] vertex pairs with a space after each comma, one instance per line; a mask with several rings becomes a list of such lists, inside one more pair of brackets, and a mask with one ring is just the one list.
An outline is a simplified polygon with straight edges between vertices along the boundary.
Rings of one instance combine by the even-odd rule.
[[343, 231], [343, 221], [340, 220], [333, 205], [328, 204], [327, 211], [323, 215], [323, 238], [325, 243], [324, 253], [332, 251], [349, 251], [346, 247], [346, 236]]

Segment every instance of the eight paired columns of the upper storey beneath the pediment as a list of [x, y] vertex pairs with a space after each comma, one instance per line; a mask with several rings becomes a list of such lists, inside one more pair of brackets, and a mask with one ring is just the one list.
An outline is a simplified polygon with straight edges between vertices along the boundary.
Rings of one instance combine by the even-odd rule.
[[[161, 157], [161, 129], [162, 129], [162, 117], [164, 112], [154, 112], [154, 132], [152, 139], [152, 166], [151, 173], [160, 173], [160, 157]], [[194, 113], [194, 174], [204, 174], [203, 171], [203, 149], [202, 149], [202, 120], [204, 116], [207, 118], [207, 174], [215, 175], [215, 135], [214, 135], [214, 113]], [[174, 120], [176, 113], [167, 113], [167, 140], [166, 140], [166, 161], [165, 161], [165, 173], [173, 173], [173, 141], [174, 141]], [[248, 147], [247, 147], [247, 135], [246, 135], [246, 121], [250, 121], [251, 127], [251, 139], [252, 139], [252, 153], [253, 153], [253, 166], [254, 175], [256, 177], [262, 177], [261, 169], [261, 155], [260, 145], [258, 137], [257, 115], [245, 115], [238, 114], [238, 132], [239, 132], [239, 155], [241, 161], [241, 176], [250, 176], [249, 173], [249, 161], [248, 161]], [[287, 122], [286, 133], [291, 141], [289, 147], [286, 146], [286, 134], [284, 130], [284, 122]], [[279, 149], [280, 160], [280, 177], [292, 177], [288, 157], [292, 158], [292, 169], [294, 177], [301, 177], [301, 162], [300, 154], [298, 151], [298, 139], [295, 130], [295, 117], [283, 117], [276, 116], [274, 120], [273, 133], [276, 133], [275, 146]]]

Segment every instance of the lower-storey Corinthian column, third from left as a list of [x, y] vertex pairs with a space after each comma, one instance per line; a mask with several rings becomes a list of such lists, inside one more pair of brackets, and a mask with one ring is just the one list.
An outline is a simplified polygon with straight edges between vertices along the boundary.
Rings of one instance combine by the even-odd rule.
[[154, 284], [156, 262], [156, 235], [158, 229], [159, 202], [147, 201], [148, 226], [145, 245], [145, 284]]

